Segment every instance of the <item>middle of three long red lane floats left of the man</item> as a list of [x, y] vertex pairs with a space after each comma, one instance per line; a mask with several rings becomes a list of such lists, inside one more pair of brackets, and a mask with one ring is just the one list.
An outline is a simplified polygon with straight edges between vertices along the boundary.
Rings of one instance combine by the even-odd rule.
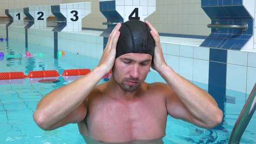
[[31, 71], [26, 76], [28, 78], [45, 78], [45, 77], [55, 77], [59, 76], [56, 70], [43, 70], [43, 71]]

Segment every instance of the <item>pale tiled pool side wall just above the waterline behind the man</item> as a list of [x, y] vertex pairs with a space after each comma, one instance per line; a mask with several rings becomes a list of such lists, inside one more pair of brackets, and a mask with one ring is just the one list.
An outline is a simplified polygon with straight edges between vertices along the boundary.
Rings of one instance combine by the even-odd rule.
[[[6, 33], [5, 26], [0, 26], [0, 33], [1, 35]], [[53, 49], [53, 36], [54, 34], [50, 29], [28, 29], [29, 44]], [[25, 29], [10, 26], [9, 38], [14, 37], [17, 41], [25, 42]], [[167, 64], [179, 75], [205, 90], [209, 90], [208, 85], [214, 83], [211, 82], [212, 79], [223, 79], [226, 84], [225, 89], [227, 89], [226, 95], [237, 95], [246, 99], [256, 82], [256, 52], [212, 49], [199, 45], [187, 46], [183, 43], [168, 42], [161, 43], [161, 46]], [[25, 44], [22, 47], [25, 47]], [[74, 52], [100, 59], [103, 52], [103, 37], [85, 32], [60, 32], [58, 33], [58, 49], [59, 51]], [[217, 69], [214, 69], [214, 65], [224, 66], [217, 66]], [[146, 79], [147, 82], [155, 82], [156, 80], [164, 82], [164, 79], [153, 69], [148, 75], [154, 79]]]

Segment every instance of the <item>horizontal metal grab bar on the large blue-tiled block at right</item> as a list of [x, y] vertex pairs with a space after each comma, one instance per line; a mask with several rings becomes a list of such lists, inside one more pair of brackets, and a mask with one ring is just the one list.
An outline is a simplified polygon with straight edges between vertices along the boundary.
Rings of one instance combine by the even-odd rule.
[[248, 29], [248, 24], [243, 23], [243, 25], [228, 25], [228, 24], [208, 24], [207, 27], [209, 28], [215, 28], [215, 29], [243, 29], [243, 31], [246, 31]]

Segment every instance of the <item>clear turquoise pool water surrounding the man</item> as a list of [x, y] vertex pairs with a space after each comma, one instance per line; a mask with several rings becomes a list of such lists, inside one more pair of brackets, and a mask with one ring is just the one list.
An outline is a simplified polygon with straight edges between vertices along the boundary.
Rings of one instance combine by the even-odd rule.
[[[0, 52], [8, 55], [25, 54], [25, 44], [9, 40], [0, 43]], [[28, 51], [33, 57], [8, 58], [0, 61], [0, 72], [24, 72], [27, 75], [35, 70], [57, 70], [62, 73], [65, 69], [93, 69], [99, 62], [89, 56], [77, 55], [66, 52], [66, 55], [53, 58], [53, 48], [34, 46], [29, 44]], [[36, 56], [39, 52], [42, 57]], [[68, 124], [53, 131], [41, 130], [33, 121], [33, 112], [37, 102], [48, 92], [66, 85], [72, 80], [59, 76], [59, 82], [40, 83], [39, 79], [19, 79], [0, 81], [0, 143], [10, 144], [82, 144], [85, 143], [79, 134], [76, 124]], [[108, 79], [102, 79], [99, 83]], [[161, 77], [154, 72], [149, 72], [146, 82], [162, 81]], [[226, 144], [230, 137], [233, 126], [240, 114], [246, 99], [239, 97], [241, 93], [234, 92], [229, 95], [222, 105], [224, 111], [223, 123], [216, 128], [207, 130], [198, 128], [187, 122], [168, 116], [166, 136], [163, 138], [166, 144]], [[245, 95], [245, 94], [241, 94]], [[235, 104], [234, 104], [235, 103]], [[245, 133], [242, 144], [255, 144], [255, 121], [253, 116]]]

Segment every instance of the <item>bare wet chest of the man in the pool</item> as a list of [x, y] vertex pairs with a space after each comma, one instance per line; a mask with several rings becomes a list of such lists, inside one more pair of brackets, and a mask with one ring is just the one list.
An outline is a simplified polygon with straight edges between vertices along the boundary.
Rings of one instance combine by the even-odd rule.
[[91, 104], [86, 116], [90, 135], [104, 140], [159, 138], [165, 134], [166, 121], [165, 104], [158, 100], [100, 102]]

